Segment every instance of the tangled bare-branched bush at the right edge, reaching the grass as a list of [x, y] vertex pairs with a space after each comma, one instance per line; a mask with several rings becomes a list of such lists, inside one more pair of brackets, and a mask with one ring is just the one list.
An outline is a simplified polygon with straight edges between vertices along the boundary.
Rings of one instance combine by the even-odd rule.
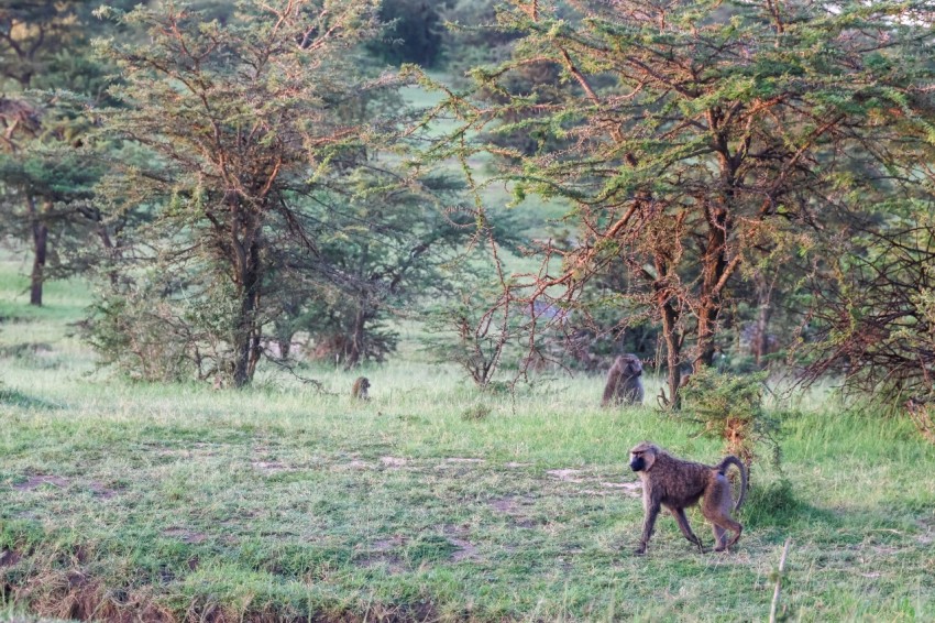
[[891, 409], [935, 398], [935, 223], [915, 201], [893, 200], [881, 222], [831, 247], [831, 277], [812, 285], [814, 335], [800, 350], [810, 382], [829, 373]]

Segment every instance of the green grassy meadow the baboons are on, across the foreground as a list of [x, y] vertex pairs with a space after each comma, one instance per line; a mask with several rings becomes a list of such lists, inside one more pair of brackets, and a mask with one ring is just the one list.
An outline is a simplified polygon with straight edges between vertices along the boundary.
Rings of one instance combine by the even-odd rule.
[[935, 448], [904, 422], [773, 400], [783, 472], [755, 468], [738, 546], [698, 554], [664, 515], [636, 557], [627, 449], [721, 448], [598, 408], [598, 378], [484, 395], [409, 349], [367, 404], [324, 368], [328, 393], [132, 384], [75, 336], [87, 286], [31, 309], [22, 272], [0, 264], [0, 619], [766, 620], [791, 538], [787, 620], [935, 620]]

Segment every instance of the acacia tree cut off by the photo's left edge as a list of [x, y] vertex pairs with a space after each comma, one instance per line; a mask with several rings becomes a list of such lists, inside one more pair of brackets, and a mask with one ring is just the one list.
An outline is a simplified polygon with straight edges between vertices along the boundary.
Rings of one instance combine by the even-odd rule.
[[85, 54], [88, 18], [88, 3], [77, 0], [0, 8], [0, 219], [31, 242], [36, 306], [50, 255], [88, 247], [91, 232], [109, 242], [88, 201], [100, 167], [88, 150], [92, 120], [85, 109], [108, 84], [107, 69]]

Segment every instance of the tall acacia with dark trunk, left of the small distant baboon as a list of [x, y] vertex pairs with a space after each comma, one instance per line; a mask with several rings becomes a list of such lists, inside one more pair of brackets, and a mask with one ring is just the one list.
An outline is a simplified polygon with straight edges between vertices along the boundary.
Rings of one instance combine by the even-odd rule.
[[164, 303], [185, 302], [188, 315], [164, 321], [177, 320], [190, 354], [200, 364], [210, 351], [235, 386], [253, 378], [267, 300], [294, 287], [275, 278], [283, 251], [319, 253], [306, 210], [350, 193], [348, 172], [374, 144], [377, 121], [352, 111], [392, 81], [367, 80], [354, 64], [376, 32], [376, 8], [248, 1], [223, 23], [182, 3], [102, 11], [150, 36], [99, 42], [123, 78], [111, 89], [123, 108], [101, 112], [106, 129], [152, 153], [145, 167], [116, 163], [105, 186], [111, 211], [147, 204], [155, 212], [138, 231], [138, 252], [122, 260], [160, 266]]

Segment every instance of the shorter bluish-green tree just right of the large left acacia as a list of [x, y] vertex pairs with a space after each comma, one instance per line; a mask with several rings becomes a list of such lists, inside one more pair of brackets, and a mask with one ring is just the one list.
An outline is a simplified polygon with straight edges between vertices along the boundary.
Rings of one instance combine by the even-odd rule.
[[367, 172], [358, 179], [356, 196], [307, 215], [318, 253], [300, 259], [287, 249], [277, 262], [279, 278], [294, 284], [278, 297], [290, 312], [274, 320], [283, 356], [302, 332], [317, 358], [346, 368], [383, 361], [396, 345], [385, 321], [420, 299], [446, 295], [447, 267], [458, 263], [474, 232], [471, 214], [457, 204], [463, 185], [450, 176], [400, 185], [385, 172]]

